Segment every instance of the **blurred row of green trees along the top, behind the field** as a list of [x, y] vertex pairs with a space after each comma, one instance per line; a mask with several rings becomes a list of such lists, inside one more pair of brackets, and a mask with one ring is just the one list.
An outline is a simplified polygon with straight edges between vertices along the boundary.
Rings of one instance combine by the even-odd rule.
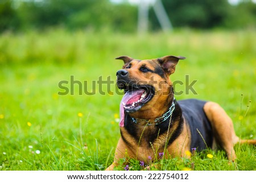
[[[256, 4], [243, 1], [232, 6], [228, 0], [162, 0], [174, 27], [241, 28], [255, 27]], [[137, 6], [127, 1], [110, 0], [26, 0], [0, 1], [0, 32], [44, 30], [64, 27], [69, 30], [133, 32], [137, 30]], [[150, 9], [150, 28], [159, 30], [155, 12]]]

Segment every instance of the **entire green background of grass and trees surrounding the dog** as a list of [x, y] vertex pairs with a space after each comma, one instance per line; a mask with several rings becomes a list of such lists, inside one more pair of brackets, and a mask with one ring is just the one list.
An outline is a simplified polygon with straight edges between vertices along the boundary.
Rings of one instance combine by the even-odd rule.
[[[256, 138], [255, 1], [162, 3], [173, 29], [162, 30], [151, 1], [141, 34], [134, 1], [0, 0], [0, 170], [104, 170], [111, 164], [122, 95], [115, 84], [109, 90], [97, 81], [115, 82], [123, 63], [114, 58], [121, 55], [187, 57], [171, 80], [184, 82], [177, 91], [197, 80], [197, 94], [176, 99], [218, 102], [238, 136]], [[71, 76], [82, 87], [59, 95], [60, 81], [71, 90]], [[236, 147], [237, 166], [228, 165], [223, 152], [211, 152], [213, 160], [166, 160], [162, 169], [256, 169], [254, 146]]]

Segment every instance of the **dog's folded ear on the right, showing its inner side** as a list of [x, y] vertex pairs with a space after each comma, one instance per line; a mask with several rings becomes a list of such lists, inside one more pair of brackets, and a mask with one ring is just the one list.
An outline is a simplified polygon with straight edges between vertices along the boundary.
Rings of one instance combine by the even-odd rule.
[[180, 59], [185, 59], [183, 56], [164, 56], [158, 60], [158, 63], [161, 65], [163, 70], [167, 73], [167, 75], [171, 75], [175, 72], [176, 64]]

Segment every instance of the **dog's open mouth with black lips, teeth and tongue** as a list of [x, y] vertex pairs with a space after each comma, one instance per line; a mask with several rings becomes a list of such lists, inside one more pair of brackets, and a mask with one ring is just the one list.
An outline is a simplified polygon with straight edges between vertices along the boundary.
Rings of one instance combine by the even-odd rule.
[[[120, 88], [120, 87], [119, 87]], [[154, 87], [151, 85], [123, 86], [125, 95], [121, 104], [127, 113], [134, 113], [154, 97]]]

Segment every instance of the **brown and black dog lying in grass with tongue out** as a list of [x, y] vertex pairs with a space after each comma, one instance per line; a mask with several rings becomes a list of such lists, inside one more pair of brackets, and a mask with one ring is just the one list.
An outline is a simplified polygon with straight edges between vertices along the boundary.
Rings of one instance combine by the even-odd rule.
[[[117, 57], [125, 63], [117, 72], [117, 85], [125, 90], [120, 104], [120, 131], [113, 170], [128, 157], [150, 164], [157, 158], [186, 157], [186, 151], [220, 146], [230, 161], [236, 159], [234, 144], [240, 140], [232, 119], [220, 105], [200, 100], [176, 101], [169, 76], [182, 56], [137, 60]], [[159, 156], [162, 154], [164, 156]], [[187, 156], [189, 157], [189, 156]]]

